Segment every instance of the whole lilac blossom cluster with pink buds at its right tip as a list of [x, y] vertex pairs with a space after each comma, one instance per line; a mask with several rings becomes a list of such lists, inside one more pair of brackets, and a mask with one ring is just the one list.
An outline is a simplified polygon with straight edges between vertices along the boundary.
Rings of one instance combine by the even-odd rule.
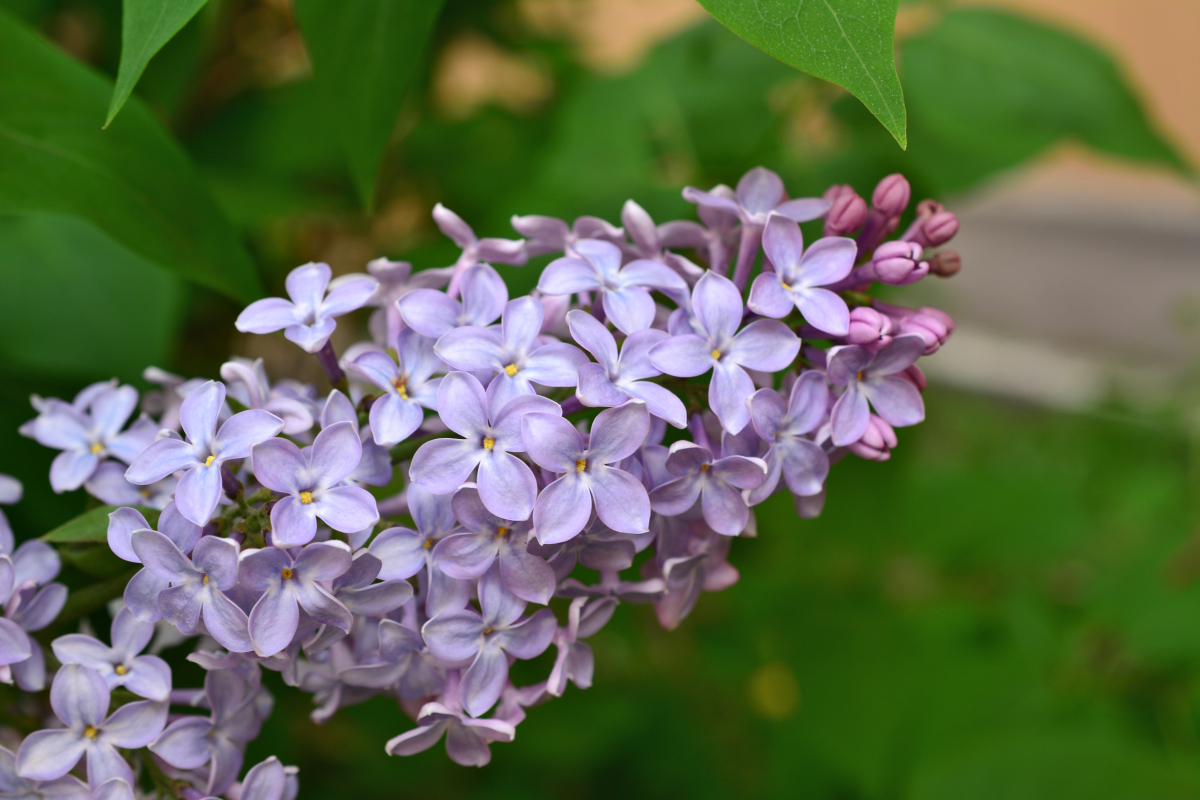
[[[263, 669], [310, 692], [317, 722], [396, 698], [415, 727], [389, 753], [444, 739], [452, 760], [486, 764], [526, 709], [592, 685], [586, 639], [619, 604], [679, 625], [739, 579], [731, 543], [754, 535], [755, 506], [784, 494], [818, 515], [832, 464], [886, 461], [895, 428], [924, 419], [917, 361], [953, 320], [871, 291], [956, 271], [932, 248], [958, 219], [923, 201], [884, 241], [910, 194], [892, 175], [870, 204], [848, 186], [788, 198], [756, 168], [685, 190], [701, 222], [656, 224], [630, 200], [623, 227], [514, 217], [528, 241], [480, 239], [438, 205], [452, 266], [307, 264], [290, 300], [239, 317], [316, 354], [324, 396], [233, 360], [220, 381], [148, 372], [162, 390], [127, 428], [137, 392], [116, 381], [35, 397], [22, 433], [61, 451], [53, 488], [122, 506], [108, 545], [140, 570], [108, 643], [65, 633], [47, 662], [29, 633], [66, 601], [58, 555], [14, 549], [0, 516], [0, 680], [50, 682], [59, 720], [0, 750], [0, 793], [112, 800], [149, 778], [290, 800], [295, 770], [274, 758], [238, 782], [271, 711]], [[806, 245], [809, 222], [824, 235]], [[488, 263], [547, 254], [515, 299]], [[372, 339], [338, 357], [336, 319], [368, 307]], [[0, 504], [19, 499], [0, 476]], [[163, 622], [198, 637], [203, 688], [143, 652]], [[511, 664], [552, 645], [545, 679], [516, 686]]]

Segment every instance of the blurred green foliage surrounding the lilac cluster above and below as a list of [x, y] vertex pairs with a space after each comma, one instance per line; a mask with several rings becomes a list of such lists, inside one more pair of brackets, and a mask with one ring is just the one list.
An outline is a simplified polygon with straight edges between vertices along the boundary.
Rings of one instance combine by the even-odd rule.
[[[715, 22], [613, 74], [492, 0], [446, 0], [436, 20], [430, 4], [424, 43], [383, 0], [354, 0], [362, 18], [310, 37], [311, 62], [289, 4], [210, 2], [102, 131], [119, 0], [0, 6], [0, 471], [25, 483], [6, 510], [23, 537], [84, 506], [50, 493], [54, 453], [16, 434], [30, 392], [138, 381], [148, 363], [215, 375], [239, 300], [299, 263], [450, 263], [436, 201], [505, 236], [512, 213], [614, 219], [630, 197], [691, 217], [683, 185], [760, 163], [793, 196], [869, 194], [902, 170], [941, 200], [1062, 139], [1188, 169], [1106, 55], [1000, 12], [935, 11], [900, 42], [901, 151], [858, 101]], [[301, 28], [336, 6], [304, 0]], [[355, 25], [391, 32], [355, 49]], [[464, 41], [499, 54], [490, 70], [520, 66], [522, 91], [439, 83]], [[503, 271], [514, 291], [536, 276]], [[440, 748], [385, 757], [408, 727], [386, 700], [314, 728], [281, 686], [252, 758], [301, 764], [306, 798], [1198, 796], [1182, 438], [936, 390], [928, 405], [892, 463], [834, 470], [820, 521], [763, 507], [734, 548], [744, 581], [679, 631], [622, 609], [594, 639], [596, 687], [532, 710], [486, 770]], [[109, 569], [91, 555], [73, 587]]]

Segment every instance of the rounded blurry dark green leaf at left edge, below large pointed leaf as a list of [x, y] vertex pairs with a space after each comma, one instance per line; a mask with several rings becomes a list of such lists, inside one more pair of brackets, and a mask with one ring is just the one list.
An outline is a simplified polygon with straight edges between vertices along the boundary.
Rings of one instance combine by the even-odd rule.
[[106, 379], [168, 363], [182, 307], [179, 278], [78, 217], [0, 217], [0, 253], [7, 366]]

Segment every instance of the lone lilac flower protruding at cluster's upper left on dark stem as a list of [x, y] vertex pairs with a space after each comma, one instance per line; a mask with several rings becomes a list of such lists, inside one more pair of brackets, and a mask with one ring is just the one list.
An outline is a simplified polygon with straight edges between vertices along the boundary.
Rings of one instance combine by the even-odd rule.
[[290, 300], [256, 300], [238, 314], [234, 325], [242, 333], [283, 330], [289, 341], [316, 353], [337, 327], [334, 319], [365, 306], [379, 285], [374, 278], [362, 276], [341, 283], [326, 295], [331, 277], [329, 264], [310, 261], [298, 266], [284, 281]]

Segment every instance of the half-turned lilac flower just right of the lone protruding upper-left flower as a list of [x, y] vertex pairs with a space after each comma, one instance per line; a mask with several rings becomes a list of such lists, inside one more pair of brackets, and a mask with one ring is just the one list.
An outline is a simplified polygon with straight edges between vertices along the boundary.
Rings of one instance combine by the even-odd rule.
[[487, 264], [479, 264], [462, 275], [461, 302], [444, 291], [416, 289], [404, 295], [396, 308], [414, 331], [438, 338], [463, 325], [487, 327], [504, 313], [508, 301], [504, 278]]

